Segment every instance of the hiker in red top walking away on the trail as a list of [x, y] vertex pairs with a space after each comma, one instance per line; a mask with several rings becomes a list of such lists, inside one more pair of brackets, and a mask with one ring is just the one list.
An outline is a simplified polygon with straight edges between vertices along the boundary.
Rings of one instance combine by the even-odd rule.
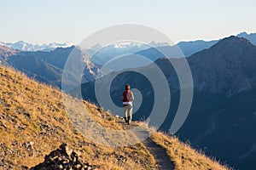
[[123, 107], [125, 112], [125, 122], [130, 125], [132, 117], [132, 102], [134, 100], [134, 96], [130, 90], [129, 84], [125, 85], [125, 91], [123, 92], [121, 99], [123, 101]]

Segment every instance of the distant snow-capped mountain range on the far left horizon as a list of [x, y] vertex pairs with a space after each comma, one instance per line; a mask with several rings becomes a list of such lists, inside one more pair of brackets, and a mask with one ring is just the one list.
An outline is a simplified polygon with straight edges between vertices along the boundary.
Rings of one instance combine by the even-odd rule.
[[28, 42], [0, 42], [0, 45], [6, 46], [9, 48], [14, 48], [16, 50], [20, 51], [52, 51], [55, 48], [68, 48], [73, 46], [73, 43], [71, 42], [64, 42], [64, 43], [58, 43], [58, 42], [51, 42], [51, 43], [38, 43], [38, 44], [32, 44]]

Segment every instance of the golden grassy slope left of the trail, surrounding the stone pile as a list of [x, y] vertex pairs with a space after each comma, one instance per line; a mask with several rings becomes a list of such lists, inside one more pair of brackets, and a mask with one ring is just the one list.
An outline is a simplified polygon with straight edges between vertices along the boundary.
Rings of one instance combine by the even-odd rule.
[[[114, 149], [84, 139], [69, 122], [57, 89], [3, 67], [0, 79], [0, 160], [6, 166], [32, 167], [66, 142], [79, 150], [86, 161], [101, 165], [102, 169], [154, 167], [154, 159], [143, 144]], [[140, 152], [145, 154], [137, 154]]]

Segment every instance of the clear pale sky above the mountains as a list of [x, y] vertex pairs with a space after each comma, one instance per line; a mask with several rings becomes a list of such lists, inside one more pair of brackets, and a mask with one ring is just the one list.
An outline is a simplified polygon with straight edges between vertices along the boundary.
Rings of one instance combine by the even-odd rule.
[[256, 32], [255, 0], [0, 0], [0, 41], [73, 42], [107, 26], [153, 27], [174, 42]]

